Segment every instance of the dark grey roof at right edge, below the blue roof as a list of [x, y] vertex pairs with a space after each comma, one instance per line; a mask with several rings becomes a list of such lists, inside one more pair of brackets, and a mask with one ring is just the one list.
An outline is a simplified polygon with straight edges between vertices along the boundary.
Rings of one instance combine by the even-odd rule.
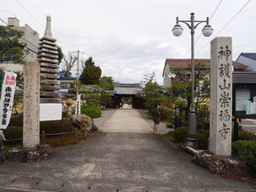
[[233, 72], [233, 84], [256, 84], [256, 73]]

